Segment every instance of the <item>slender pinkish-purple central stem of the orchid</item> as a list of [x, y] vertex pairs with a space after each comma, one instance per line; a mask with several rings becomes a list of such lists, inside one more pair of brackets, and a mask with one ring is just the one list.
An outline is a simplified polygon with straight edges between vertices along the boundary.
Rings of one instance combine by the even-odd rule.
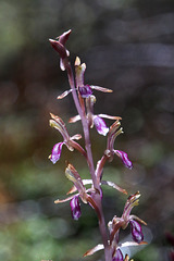
[[[80, 116], [82, 124], [83, 124], [84, 136], [85, 136], [85, 147], [86, 147], [86, 151], [87, 151], [87, 160], [88, 160], [91, 179], [94, 183], [94, 187], [96, 188], [96, 191], [100, 191], [100, 184], [97, 182], [97, 177], [95, 174], [95, 165], [94, 165], [94, 158], [92, 158], [92, 152], [91, 152], [90, 136], [89, 136], [89, 126], [88, 126], [87, 119], [85, 117], [84, 112], [83, 112], [79, 101], [78, 101], [78, 97], [77, 97], [76, 89], [75, 89], [74, 75], [73, 75], [73, 71], [72, 71], [70, 61], [66, 62], [65, 69], [67, 72], [69, 83], [72, 88], [74, 103], [76, 105], [77, 112]], [[111, 253], [110, 253], [109, 244], [108, 244], [105, 221], [104, 221], [104, 215], [103, 215], [102, 204], [101, 204], [101, 196], [99, 192], [97, 192], [97, 194], [95, 194], [94, 197], [95, 197], [94, 199], [95, 199], [95, 201], [98, 206], [99, 212], [100, 212], [99, 228], [100, 228], [102, 241], [104, 245], [105, 261], [111, 261]]]

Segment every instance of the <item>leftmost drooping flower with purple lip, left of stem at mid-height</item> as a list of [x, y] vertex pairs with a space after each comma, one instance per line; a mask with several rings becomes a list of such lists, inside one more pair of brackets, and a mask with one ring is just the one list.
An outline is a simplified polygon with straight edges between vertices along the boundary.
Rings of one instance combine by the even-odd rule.
[[59, 159], [61, 157], [63, 145], [65, 145], [67, 147], [67, 149], [71, 151], [73, 151], [74, 149], [77, 149], [82, 154], [84, 154], [86, 157], [85, 150], [76, 141], [74, 141], [75, 139], [76, 140], [80, 139], [82, 136], [79, 134], [76, 134], [73, 137], [70, 137], [66, 126], [65, 126], [64, 122], [62, 121], [62, 119], [59, 116], [55, 116], [52, 113], [50, 113], [50, 115], [52, 117], [52, 120], [50, 120], [50, 126], [58, 129], [63, 137], [63, 141], [55, 144], [52, 148], [52, 152], [49, 157], [49, 159], [52, 161], [52, 163], [55, 164], [57, 161], [59, 161]]

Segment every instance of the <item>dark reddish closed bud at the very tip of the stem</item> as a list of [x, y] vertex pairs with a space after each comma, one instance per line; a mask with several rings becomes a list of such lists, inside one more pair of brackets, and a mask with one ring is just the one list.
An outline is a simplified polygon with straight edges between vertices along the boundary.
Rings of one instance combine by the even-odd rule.
[[70, 55], [69, 50], [65, 48], [65, 44], [69, 39], [70, 34], [71, 34], [71, 30], [67, 30], [67, 32], [63, 33], [61, 36], [57, 37], [57, 39], [59, 39], [59, 40], [49, 39], [53, 49], [57, 52], [59, 52], [60, 67], [61, 67], [62, 71], [65, 70], [65, 65], [66, 65], [66, 62], [67, 62], [67, 57]]

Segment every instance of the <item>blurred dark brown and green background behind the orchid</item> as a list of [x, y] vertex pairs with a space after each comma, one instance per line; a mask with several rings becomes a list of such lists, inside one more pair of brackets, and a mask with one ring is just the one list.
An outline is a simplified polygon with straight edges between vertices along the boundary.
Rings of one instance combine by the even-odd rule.
[[[126, 249], [137, 261], [172, 260], [174, 241], [174, 1], [173, 0], [0, 0], [0, 260], [77, 261], [101, 241], [98, 221], [82, 206], [78, 222], [70, 204], [54, 206], [72, 184], [65, 160], [89, 177], [84, 158], [64, 147], [53, 165], [48, 156], [61, 135], [49, 127], [49, 112], [67, 124], [76, 114], [66, 73], [48, 39], [72, 29], [71, 61], [87, 64], [86, 84], [112, 88], [95, 92], [95, 113], [123, 117], [115, 149], [134, 163], [126, 170], [115, 157], [104, 179], [128, 194], [140, 190], [134, 214], [148, 223], [144, 248]], [[107, 121], [108, 126], [112, 124]], [[67, 124], [71, 135], [80, 124]], [[91, 130], [95, 162], [105, 138]], [[83, 142], [82, 142], [83, 145]], [[103, 188], [109, 222], [122, 214], [126, 196]], [[126, 240], [129, 228], [122, 232]], [[86, 260], [103, 260], [102, 251]]]

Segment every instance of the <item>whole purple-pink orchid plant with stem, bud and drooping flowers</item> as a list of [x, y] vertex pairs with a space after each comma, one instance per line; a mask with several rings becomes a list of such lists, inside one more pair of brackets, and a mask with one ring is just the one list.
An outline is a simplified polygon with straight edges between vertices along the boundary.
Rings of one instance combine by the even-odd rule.
[[[62, 119], [51, 113], [50, 126], [54, 127], [61, 133], [63, 141], [60, 141], [53, 146], [49, 159], [53, 164], [55, 164], [61, 157], [63, 145], [65, 145], [71, 151], [76, 149], [87, 161], [89, 178], [82, 179], [80, 171], [78, 173], [73, 164], [67, 162], [65, 167], [65, 176], [73, 183], [73, 186], [67, 192], [67, 198], [57, 199], [54, 202], [61, 203], [70, 201], [72, 217], [74, 220], [78, 220], [82, 215], [80, 201], [89, 204], [96, 211], [102, 243], [88, 250], [84, 257], [94, 254], [96, 251], [103, 249], [105, 261], [128, 261], [129, 258], [127, 254], [123, 257], [122, 248], [146, 244], [146, 241], [144, 241], [144, 234], [140, 225], [140, 223], [146, 225], [146, 222], [140, 220], [138, 216], [130, 214], [133, 207], [138, 204], [140, 194], [138, 191], [134, 195], [130, 195], [125, 203], [122, 216], [117, 217], [114, 215], [112, 221], [110, 221], [107, 226], [102, 209], [103, 194], [101, 188], [102, 185], [107, 185], [117, 189], [120, 192], [127, 195], [127, 191], [121, 188], [117, 184], [103, 179], [104, 164], [113, 161], [115, 154], [121, 159], [125, 167], [129, 170], [133, 167], [132, 161], [128, 159], [127, 153], [114, 149], [115, 138], [123, 133], [123, 128], [121, 127], [122, 119], [120, 116], [111, 116], [107, 114], [95, 114], [94, 105], [96, 103], [96, 96], [94, 95], [94, 91], [112, 92], [112, 90], [100, 86], [85, 84], [84, 74], [86, 71], [86, 64], [80, 63], [78, 57], [76, 58], [74, 64], [74, 76], [72, 65], [69, 60], [70, 52], [65, 47], [70, 34], [71, 30], [67, 30], [55, 40], [50, 39], [49, 41], [53, 49], [59, 53], [60, 67], [62, 71], [67, 72], [70, 83], [70, 90], [65, 90], [58, 97], [58, 99], [63, 99], [69, 94], [72, 94], [77, 110], [77, 115], [71, 117], [70, 123], [82, 121], [84, 134], [83, 136], [80, 134], [75, 134], [73, 137], [71, 137]], [[114, 123], [108, 127], [103, 119], [109, 119], [114, 121]], [[97, 162], [96, 167], [90, 141], [90, 128], [94, 126], [99, 135], [107, 136], [107, 148], [103, 151], [101, 159]], [[75, 141], [83, 137], [85, 139], [85, 148]], [[90, 187], [86, 188], [87, 185], [90, 185]], [[121, 244], [121, 229], [127, 228], [128, 224], [130, 224], [133, 240]]]

